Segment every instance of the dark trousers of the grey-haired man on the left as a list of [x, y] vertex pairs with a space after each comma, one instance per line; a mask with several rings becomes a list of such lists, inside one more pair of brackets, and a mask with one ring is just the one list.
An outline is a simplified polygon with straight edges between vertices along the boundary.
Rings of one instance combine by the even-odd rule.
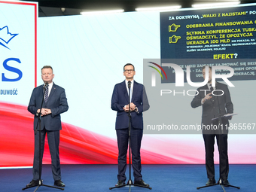
[[[54, 181], [61, 179], [60, 163], [59, 163], [59, 130], [48, 131], [41, 130], [41, 160], [44, 154], [44, 140], [47, 134], [48, 145], [50, 149], [51, 167]], [[41, 161], [42, 163], [42, 161]], [[33, 180], [39, 179], [39, 131], [35, 135], [35, 152], [33, 163]]]

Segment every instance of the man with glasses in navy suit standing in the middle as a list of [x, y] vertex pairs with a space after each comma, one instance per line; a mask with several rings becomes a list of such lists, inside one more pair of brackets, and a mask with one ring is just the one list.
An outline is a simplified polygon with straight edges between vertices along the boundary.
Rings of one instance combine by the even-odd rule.
[[[118, 175], [117, 184], [120, 186], [125, 184], [126, 181], [126, 154], [128, 149], [129, 140], [129, 102], [131, 111], [131, 151], [133, 160], [133, 176], [134, 184], [139, 184], [145, 187], [149, 187], [142, 180], [142, 165], [140, 148], [143, 135], [143, 117], [142, 112], [148, 110], [148, 98], [145, 92], [145, 87], [142, 84], [133, 80], [133, 76], [136, 75], [135, 68], [132, 64], [127, 63], [123, 66], [123, 75], [126, 80], [120, 84], [114, 86], [114, 91], [111, 99], [111, 109], [117, 111], [117, 118], [115, 123], [115, 129], [117, 132], [117, 145], [118, 145]], [[128, 98], [128, 82], [130, 84], [131, 101]]]

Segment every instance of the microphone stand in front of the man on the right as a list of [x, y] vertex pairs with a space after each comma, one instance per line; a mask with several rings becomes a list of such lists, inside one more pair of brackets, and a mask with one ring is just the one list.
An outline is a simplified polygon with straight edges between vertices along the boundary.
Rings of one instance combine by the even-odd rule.
[[[216, 84], [216, 88], [217, 88], [217, 84]], [[218, 95], [216, 96], [217, 97], [217, 103], [218, 103], [218, 129], [221, 127], [221, 134], [224, 134], [224, 131], [223, 131], [223, 125], [222, 125], [222, 120], [221, 120], [221, 108], [220, 108], [220, 103], [218, 101]], [[220, 142], [220, 145], [221, 145], [221, 142]], [[221, 163], [221, 162], [220, 162]], [[220, 165], [221, 166], [221, 165]], [[233, 186], [231, 184], [223, 184], [223, 181], [222, 181], [222, 178], [219, 178], [218, 182], [215, 183], [215, 184], [209, 184], [209, 185], [205, 185], [203, 187], [197, 187], [197, 189], [201, 189], [201, 188], [205, 188], [205, 187], [212, 187], [212, 186], [215, 186], [215, 185], [221, 185], [222, 189], [224, 190], [224, 192], [226, 192], [226, 190], [224, 189], [224, 187], [234, 187], [236, 189], [240, 189], [240, 187], [236, 187], [236, 186]]]

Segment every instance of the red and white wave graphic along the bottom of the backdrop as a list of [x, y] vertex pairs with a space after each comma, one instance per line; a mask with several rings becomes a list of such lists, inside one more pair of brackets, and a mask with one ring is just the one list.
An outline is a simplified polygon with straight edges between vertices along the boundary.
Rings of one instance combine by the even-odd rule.
[[[27, 107], [0, 102], [0, 126], [0, 167], [32, 166], [33, 115], [27, 111]], [[193, 143], [184, 141], [185, 139], [144, 136], [142, 163], [204, 163], [203, 138]], [[45, 143], [43, 163], [50, 164], [47, 141]], [[239, 148], [236, 151], [237, 149]], [[69, 123], [62, 123], [59, 154], [62, 164], [117, 164], [117, 141]], [[230, 155], [234, 157], [231, 163], [255, 163], [256, 159], [256, 155], [251, 153], [244, 154], [243, 159], [236, 153]], [[250, 155], [254, 157], [251, 158]]]

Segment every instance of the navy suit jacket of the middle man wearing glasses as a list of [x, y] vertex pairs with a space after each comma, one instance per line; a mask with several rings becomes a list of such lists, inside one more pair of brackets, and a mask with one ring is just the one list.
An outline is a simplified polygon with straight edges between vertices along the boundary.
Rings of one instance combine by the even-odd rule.
[[[142, 84], [134, 81], [133, 84], [133, 96], [132, 102], [138, 108], [138, 112], [131, 111], [131, 123], [133, 128], [143, 129], [143, 117], [142, 112], [147, 111], [149, 108], [148, 97], [145, 91], [145, 87]], [[111, 109], [117, 111], [117, 118], [115, 123], [115, 129], [126, 129], [129, 126], [128, 113], [123, 110], [124, 105], [129, 104], [128, 93], [126, 89], [125, 81], [114, 86]]]

